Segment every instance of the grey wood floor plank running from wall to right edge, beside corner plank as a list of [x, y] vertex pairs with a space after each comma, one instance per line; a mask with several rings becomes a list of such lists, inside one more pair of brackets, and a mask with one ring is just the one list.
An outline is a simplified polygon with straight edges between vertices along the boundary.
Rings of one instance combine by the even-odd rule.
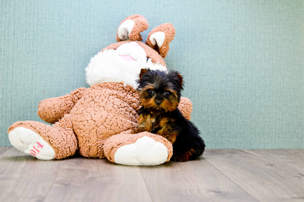
[[[298, 158], [286, 149], [250, 149], [251, 151], [269, 158], [279, 164], [285, 165], [288, 168], [297, 171], [304, 176], [304, 160]], [[303, 182], [304, 183], [304, 182]]]

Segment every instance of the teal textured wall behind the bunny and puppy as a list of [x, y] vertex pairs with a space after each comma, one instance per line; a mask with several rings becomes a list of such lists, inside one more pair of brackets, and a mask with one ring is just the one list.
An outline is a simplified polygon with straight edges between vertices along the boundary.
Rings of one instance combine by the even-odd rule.
[[0, 145], [39, 101], [88, 87], [121, 20], [170, 22], [165, 58], [186, 81], [208, 148], [304, 148], [304, 1], [0, 1]]

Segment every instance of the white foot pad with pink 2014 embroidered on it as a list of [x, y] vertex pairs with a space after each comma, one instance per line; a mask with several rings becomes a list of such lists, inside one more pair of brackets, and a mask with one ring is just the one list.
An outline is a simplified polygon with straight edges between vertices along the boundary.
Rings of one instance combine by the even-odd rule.
[[8, 133], [8, 139], [16, 149], [38, 159], [51, 160], [55, 156], [54, 149], [34, 131], [17, 127]]

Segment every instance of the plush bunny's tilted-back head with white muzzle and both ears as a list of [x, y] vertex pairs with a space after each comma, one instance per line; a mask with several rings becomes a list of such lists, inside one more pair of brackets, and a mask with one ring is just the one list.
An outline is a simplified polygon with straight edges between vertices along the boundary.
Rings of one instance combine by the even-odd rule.
[[86, 68], [87, 83], [92, 86], [103, 82], [123, 82], [137, 87], [136, 79], [142, 68], [166, 71], [163, 60], [169, 51], [175, 29], [165, 23], [152, 29], [147, 41], [142, 42], [140, 32], [149, 27], [141, 15], [124, 19], [117, 29], [117, 43], [102, 49], [91, 58]]

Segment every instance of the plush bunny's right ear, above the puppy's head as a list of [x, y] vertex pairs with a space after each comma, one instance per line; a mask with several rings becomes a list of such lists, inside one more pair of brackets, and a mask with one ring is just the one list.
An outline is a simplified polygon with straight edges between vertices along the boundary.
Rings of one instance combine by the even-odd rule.
[[157, 50], [164, 58], [169, 51], [169, 43], [175, 36], [175, 28], [171, 23], [165, 23], [152, 29], [145, 42], [151, 48]]

